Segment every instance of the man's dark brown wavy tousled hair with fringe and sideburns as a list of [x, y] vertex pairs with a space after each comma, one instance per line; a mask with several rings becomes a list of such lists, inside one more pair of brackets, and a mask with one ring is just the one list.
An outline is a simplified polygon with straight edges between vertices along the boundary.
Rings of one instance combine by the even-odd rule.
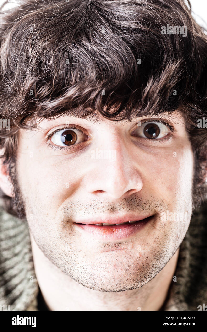
[[[207, 118], [207, 37], [190, 3], [18, 0], [4, 11], [6, 3], [0, 112], [11, 128], [0, 129], [0, 148], [13, 185], [19, 128], [35, 130], [42, 119], [63, 114], [98, 111], [120, 121], [179, 109], [194, 153], [193, 207], [199, 207], [207, 191], [207, 131], [197, 126]], [[186, 37], [162, 34], [167, 24], [187, 27]], [[25, 215], [18, 195], [2, 197], [11, 213]]]

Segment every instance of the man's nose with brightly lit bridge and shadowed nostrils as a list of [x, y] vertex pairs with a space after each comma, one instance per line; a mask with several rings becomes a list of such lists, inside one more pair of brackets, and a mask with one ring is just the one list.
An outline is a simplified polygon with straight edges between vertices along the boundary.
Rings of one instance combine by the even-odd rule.
[[117, 200], [142, 189], [137, 160], [121, 143], [115, 150], [96, 149], [91, 161], [93, 166], [86, 181], [88, 193], [99, 198]]

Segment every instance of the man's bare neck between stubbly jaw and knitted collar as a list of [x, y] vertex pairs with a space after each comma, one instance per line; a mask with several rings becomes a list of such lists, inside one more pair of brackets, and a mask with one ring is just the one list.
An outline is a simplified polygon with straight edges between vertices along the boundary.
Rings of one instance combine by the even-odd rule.
[[42, 253], [32, 235], [35, 273], [50, 310], [159, 310], [167, 296], [179, 249], [165, 267], [141, 288], [121, 292], [88, 289], [65, 275]]

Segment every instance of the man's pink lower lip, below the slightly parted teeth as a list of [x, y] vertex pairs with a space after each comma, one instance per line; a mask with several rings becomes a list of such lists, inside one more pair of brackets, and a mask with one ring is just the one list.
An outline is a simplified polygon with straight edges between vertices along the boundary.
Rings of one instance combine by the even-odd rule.
[[154, 216], [150, 216], [143, 220], [137, 221], [134, 224], [122, 224], [122, 225], [115, 225], [115, 226], [98, 226], [94, 224], [78, 224], [77, 227], [81, 228], [84, 232], [88, 233], [89, 235], [100, 239], [100, 240], [119, 240], [130, 237], [135, 233], [141, 231], [144, 226], [149, 223]]

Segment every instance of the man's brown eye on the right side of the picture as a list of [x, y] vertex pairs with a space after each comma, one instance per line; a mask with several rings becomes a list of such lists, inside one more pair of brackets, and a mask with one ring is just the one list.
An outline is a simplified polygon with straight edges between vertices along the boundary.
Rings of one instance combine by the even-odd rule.
[[132, 132], [132, 136], [149, 139], [161, 139], [169, 134], [170, 130], [165, 124], [158, 122], [143, 123]]

